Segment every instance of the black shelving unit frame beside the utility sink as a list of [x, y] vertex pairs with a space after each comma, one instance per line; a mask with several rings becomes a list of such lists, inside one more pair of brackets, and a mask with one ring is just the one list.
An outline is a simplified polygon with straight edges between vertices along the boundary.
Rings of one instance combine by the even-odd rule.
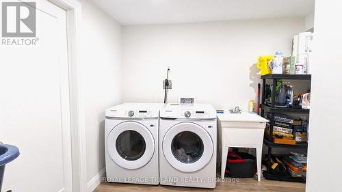
[[[302, 149], [307, 150], [308, 143], [300, 142], [296, 143], [295, 145], [285, 145], [285, 144], [278, 144], [273, 142], [273, 126], [274, 126], [274, 113], [300, 113], [300, 114], [308, 114], [310, 113], [309, 109], [291, 109], [291, 108], [278, 108], [275, 107], [274, 100], [275, 100], [275, 92], [276, 92], [276, 83], [279, 79], [295, 79], [295, 80], [308, 80], [311, 81], [311, 74], [266, 74], [261, 76], [263, 80], [263, 90], [262, 90], [262, 98], [261, 98], [261, 116], [265, 117], [265, 112], [270, 113], [270, 120], [269, 120], [269, 137], [268, 139], [264, 139], [263, 143], [268, 148], [268, 161], [267, 161], [267, 172], [264, 172], [263, 175], [268, 180], [282, 180], [282, 181], [292, 181], [292, 182], [306, 182], [305, 178], [293, 178], [290, 175], [288, 176], [280, 176], [271, 174], [271, 156], [272, 156], [272, 148], [289, 148], [289, 149]], [[265, 102], [265, 87], [266, 81], [272, 81], [272, 95], [271, 106], [264, 105]]]

